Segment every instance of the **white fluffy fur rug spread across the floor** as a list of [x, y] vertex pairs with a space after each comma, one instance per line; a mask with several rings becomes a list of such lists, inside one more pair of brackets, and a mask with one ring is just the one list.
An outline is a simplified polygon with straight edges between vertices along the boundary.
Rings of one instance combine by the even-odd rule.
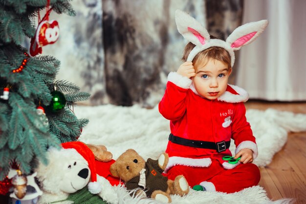
[[[136, 150], [144, 159], [157, 157], [165, 151], [170, 133], [169, 121], [154, 109], [138, 105], [120, 107], [103, 105], [96, 107], [78, 106], [74, 110], [78, 118], [88, 118], [81, 141], [103, 144], [117, 159], [127, 149]], [[254, 163], [269, 164], [273, 155], [281, 150], [287, 140], [287, 133], [306, 131], [306, 114], [293, 114], [273, 109], [266, 111], [247, 110], [247, 120], [256, 137], [259, 156]], [[231, 143], [234, 152], [235, 144]], [[155, 204], [150, 199], [132, 199], [123, 187], [117, 189], [120, 204]], [[173, 204], [288, 204], [290, 200], [272, 202], [264, 189], [254, 186], [233, 194], [220, 192], [198, 192], [191, 190], [186, 197], [172, 196]]]

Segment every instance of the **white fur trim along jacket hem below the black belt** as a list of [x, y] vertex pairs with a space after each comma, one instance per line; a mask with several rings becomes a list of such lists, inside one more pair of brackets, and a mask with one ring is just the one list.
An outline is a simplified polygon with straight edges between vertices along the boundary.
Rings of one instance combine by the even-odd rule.
[[208, 167], [212, 163], [210, 158], [202, 158], [202, 159], [192, 159], [192, 158], [184, 158], [184, 157], [170, 157], [169, 162], [164, 170], [165, 173], [175, 166], [175, 165], [183, 165], [183, 166], [193, 166], [193, 167]]

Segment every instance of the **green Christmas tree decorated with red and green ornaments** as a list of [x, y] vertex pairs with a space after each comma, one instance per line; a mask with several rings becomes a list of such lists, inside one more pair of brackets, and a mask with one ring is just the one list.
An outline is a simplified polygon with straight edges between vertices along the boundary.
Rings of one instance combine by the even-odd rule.
[[[0, 0], [0, 181], [12, 165], [27, 175], [35, 168], [35, 159], [47, 163], [48, 147], [76, 140], [88, 123], [71, 109], [75, 102], [87, 100], [89, 93], [56, 81], [60, 62], [54, 57], [33, 56], [46, 45], [38, 33], [44, 30], [35, 22], [43, 12], [40, 22], [48, 21], [51, 11], [75, 15], [68, 0]], [[54, 30], [58, 37], [59, 30], [46, 32]], [[54, 43], [51, 34], [45, 33], [49, 44]], [[22, 47], [26, 38], [32, 39], [32, 56]]]

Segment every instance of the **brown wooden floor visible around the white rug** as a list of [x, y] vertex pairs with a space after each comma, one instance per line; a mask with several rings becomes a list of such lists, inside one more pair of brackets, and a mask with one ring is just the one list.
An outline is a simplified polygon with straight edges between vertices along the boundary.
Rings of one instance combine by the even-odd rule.
[[[245, 106], [246, 109], [273, 108], [306, 113], [306, 102], [248, 101]], [[293, 198], [294, 204], [306, 204], [306, 132], [289, 133], [283, 149], [268, 166], [261, 168], [261, 175], [259, 185], [266, 190], [270, 199]]]

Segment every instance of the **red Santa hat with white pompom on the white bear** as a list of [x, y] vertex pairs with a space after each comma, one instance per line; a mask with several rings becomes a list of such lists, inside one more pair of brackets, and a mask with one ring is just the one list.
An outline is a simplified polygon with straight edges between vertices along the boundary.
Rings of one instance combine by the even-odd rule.
[[90, 180], [88, 183], [88, 190], [92, 194], [100, 193], [102, 190], [102, 184], [97, 182], [96, 164], [92, 151], [87, 147], [87, 145], [80, 141], [72, 141], [62, 143], [64, 149], [75, 149], [84, 159], [88, 162], [88, 167], [90, 169]]

